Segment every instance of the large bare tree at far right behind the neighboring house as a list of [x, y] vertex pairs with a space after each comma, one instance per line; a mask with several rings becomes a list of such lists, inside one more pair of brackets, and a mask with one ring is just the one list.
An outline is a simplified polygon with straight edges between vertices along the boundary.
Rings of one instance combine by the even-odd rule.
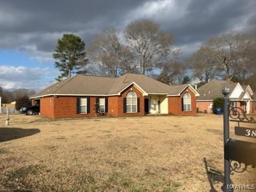
[[206, 46], [210, 47], [215, 60], [225, 71], [225, 79], [231, 80], [237, 75], [245, 79], [250, 73], [252, 54], [249, 50], [255, 46], [255, 41], [247, 35], [230, 31], [219, 37], [209, 38]]

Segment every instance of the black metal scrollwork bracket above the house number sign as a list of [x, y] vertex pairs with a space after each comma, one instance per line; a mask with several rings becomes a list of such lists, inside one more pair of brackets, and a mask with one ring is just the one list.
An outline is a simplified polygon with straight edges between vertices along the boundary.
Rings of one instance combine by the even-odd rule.
[[246, 111], [239, 107], [230, 107], [229, 117], [239, 122], [256, 123], [256, 120], [253, 117], [247, 117]]

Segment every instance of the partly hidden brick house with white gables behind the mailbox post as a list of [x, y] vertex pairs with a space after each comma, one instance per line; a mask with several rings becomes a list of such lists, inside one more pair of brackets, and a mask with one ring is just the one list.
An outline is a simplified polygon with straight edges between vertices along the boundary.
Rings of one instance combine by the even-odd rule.
[[239, 107], [246, 113], [256, 113], [256, 102], [250, 85], [240, 85], [231, 81], [212, 80], [199, 87], [196, 91], [200, 94], [196, 98], [196, 106], [199, 112], [209, 113], [213, 106], [213, 100], [223, 98], [222, 88], [229, 88], [229, 101], [232, 107]]

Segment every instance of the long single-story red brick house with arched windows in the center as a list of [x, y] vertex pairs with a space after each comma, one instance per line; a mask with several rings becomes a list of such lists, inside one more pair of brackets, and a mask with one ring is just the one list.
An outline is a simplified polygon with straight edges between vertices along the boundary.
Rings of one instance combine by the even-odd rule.
[[121, 77], [76, 75], [31, 96], [42, 116], [94, 117], [146, 114], [196, 115], [197, 91], [139, 74]]

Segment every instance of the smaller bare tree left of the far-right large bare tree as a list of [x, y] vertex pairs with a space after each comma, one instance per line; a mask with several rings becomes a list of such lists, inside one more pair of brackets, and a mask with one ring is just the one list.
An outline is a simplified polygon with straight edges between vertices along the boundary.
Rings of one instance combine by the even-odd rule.
[[187, 64], [191, 71], [191, 76], [199, 79], [203, 84], [218, 76], [219, 67], [209, 47], [201, 46], [187, 60]]

